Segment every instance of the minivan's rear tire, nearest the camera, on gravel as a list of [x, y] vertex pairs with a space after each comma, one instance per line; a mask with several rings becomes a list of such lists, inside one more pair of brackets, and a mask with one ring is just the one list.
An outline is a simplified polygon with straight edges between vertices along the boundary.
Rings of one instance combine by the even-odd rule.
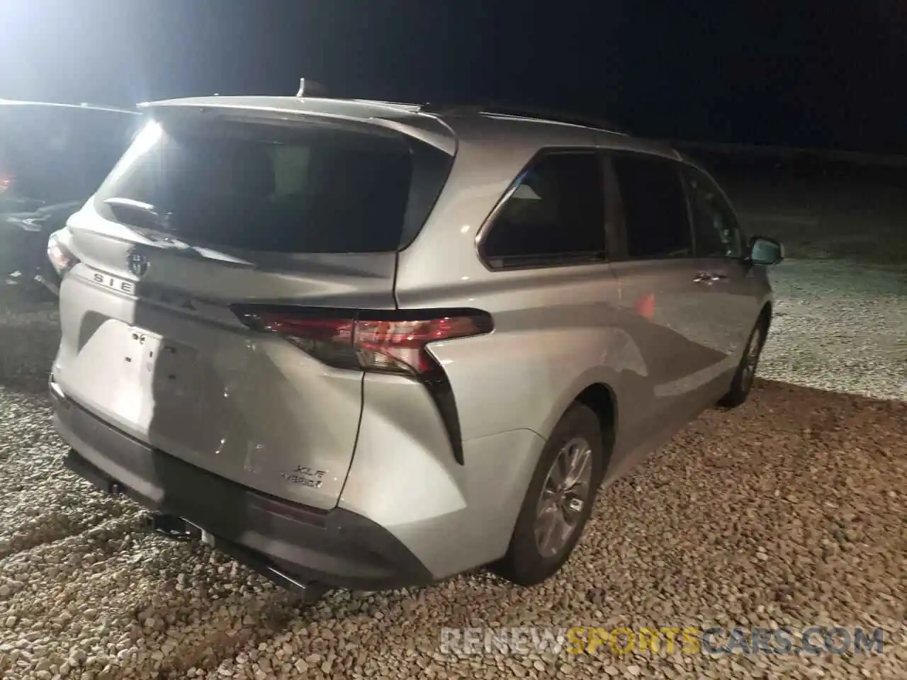
[[[572, 487], [575, 494], [561, 491], [559, 495], [552, 492], [551, 489], [557, 486], [556, 479], [550, 480], [550, 472], [553, 471], [555, 461], [572, 460], [573, 457], [584, 455], [580, 450], [586, 448], [586, 445], [589, 451], [589, 477], [585, 489], [580, 489], [581, 484], [578, 483]], [[568, 450], [573, 452], [572, 456], [567, 453], [566, 459], [562, 458], [561, 453]], [[491, 565], [493, 572], [520, 586], [537, 585], [557, 573], [570, 558], [589, 520], [596, 492], [604, 474], [605, 461], [599, 417], [588, 406], [573, 403], [554, 427], [551, 437], [542, 449], [513, 528], [510, 546], [504, 557]], [[561, 467], [559, 470], [564, 468]], [[556, 471], [554, 474], [557, 477]], [[569, 486], [571, 474], [568, 473], [565, 477], [565, 482]], [[580, 476], [580, 481], [581, 479], [585, 479], [585, 472]], [[546, 490], [547, 501], [541, 500], [543, 490]], [[581, 509], [571, 509], [568, 505], [571, 499], [580, 495]], [[559, 507], [558, 501], [560, 510], [557, 512], [561, 513], [561, 518], [569, 518], [567, 525], [558, 524], [555, 519], [558, 517], [557, 512], [551, 510], [552, 503], [556, 508]], [[549, 518], [545, 526], [562, 529], [547, 532], [545, 535], [551, 537], [551, 541], [544, 546], [540, 545], [536, 538], [537, 521], [542, 521], [539, 512], [543, 506], [547, 509], [545, 514]], [[559, 535], [563, 537], [565, 534], [566, 538], [558, 540]], [[552, 547], [555, 547], [553, 552]]]

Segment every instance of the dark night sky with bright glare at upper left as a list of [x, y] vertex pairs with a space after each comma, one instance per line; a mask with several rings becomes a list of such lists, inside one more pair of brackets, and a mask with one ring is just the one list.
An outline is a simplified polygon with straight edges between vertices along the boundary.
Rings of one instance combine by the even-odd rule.
[[642, 135], [907, 153], [902, 0], [0, 0], [0, 97], [526, 102]]

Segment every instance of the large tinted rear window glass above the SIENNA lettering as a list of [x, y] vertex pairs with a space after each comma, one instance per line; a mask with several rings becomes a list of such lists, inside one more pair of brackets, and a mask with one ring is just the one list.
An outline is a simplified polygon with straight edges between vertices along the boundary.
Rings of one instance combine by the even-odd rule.
[[433, 167], [444, 160], [415, 144], [313, 126], [152, 121], [95, 203], [109, 219], [215, 247], [394, 251], [412, 237], [408, 223], [421, 227], [444, 181], [420, 171], [426, 154]]

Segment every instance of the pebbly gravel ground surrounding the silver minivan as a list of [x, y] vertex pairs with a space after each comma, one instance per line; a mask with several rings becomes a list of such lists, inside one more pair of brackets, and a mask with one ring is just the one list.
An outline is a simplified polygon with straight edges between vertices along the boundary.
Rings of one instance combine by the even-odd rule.
[[[525, 590], [480, 572], [412, 591], [332, 593], [302, 611], [204, 546], [142, 532], [137, 506], [63, 471], [44, 398], [54, 314], [40, 303], [6, 309], [0, 676], [907, 676], [907, 374], [897, 344], [907, 296], [889, 272], [834, 262], [787, 262], [774, 278], [778, 317], [761, 369], [773, 382], [736, 412], [704, 413], [603, 491], [558, 578]], [[442, 627], [833, 623], [884, 627], [884, 654], [439, 650]]]

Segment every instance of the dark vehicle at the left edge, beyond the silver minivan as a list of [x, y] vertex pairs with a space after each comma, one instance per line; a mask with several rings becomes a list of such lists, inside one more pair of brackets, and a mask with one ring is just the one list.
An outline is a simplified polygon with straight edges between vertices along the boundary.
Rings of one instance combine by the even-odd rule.
[[0, 277], [42, 277], [63, 228], [129, 145], [141, 116], [97, 106], [0, 100]]

